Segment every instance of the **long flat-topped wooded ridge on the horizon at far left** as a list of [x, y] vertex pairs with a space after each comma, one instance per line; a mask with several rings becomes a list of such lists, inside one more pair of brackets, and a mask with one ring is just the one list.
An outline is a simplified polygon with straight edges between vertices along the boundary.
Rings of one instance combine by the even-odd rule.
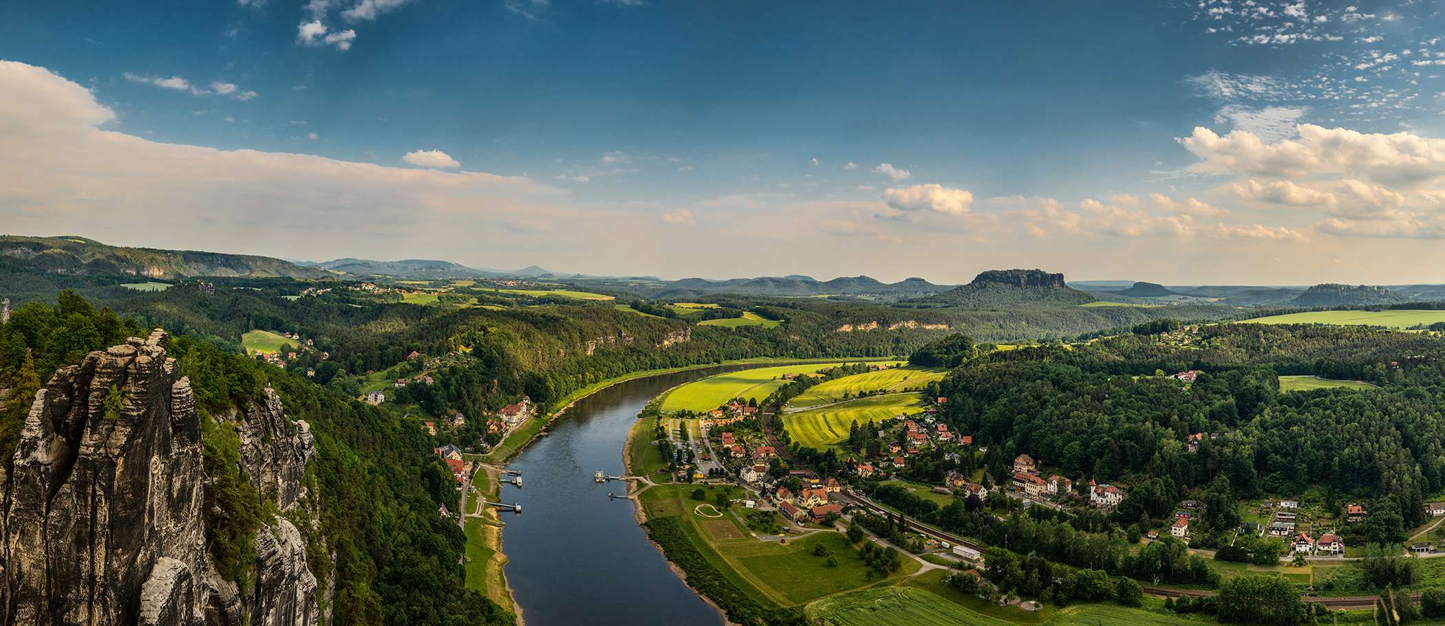
[[327, 278], [322, 268], [249, 254], [127, 248], [82, 237], [0, 235], [0, 255], [16, 271], [146, 278], [253, 277]]

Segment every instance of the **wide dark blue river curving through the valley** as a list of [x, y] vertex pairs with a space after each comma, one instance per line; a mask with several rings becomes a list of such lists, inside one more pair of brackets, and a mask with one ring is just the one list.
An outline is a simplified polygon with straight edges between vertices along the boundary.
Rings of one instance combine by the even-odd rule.
[[717, 366], [618, 382], [578, 401], [507, 469], [523, 489], [501, 486], [506, 573], [527, 626], [722, 625], [715, 609], [673, 574], [636, 518], [620, 482], [598, 485], [597, 470], [623, 473], [623, 446], [637, 414], [673, 385], [737, 366]]

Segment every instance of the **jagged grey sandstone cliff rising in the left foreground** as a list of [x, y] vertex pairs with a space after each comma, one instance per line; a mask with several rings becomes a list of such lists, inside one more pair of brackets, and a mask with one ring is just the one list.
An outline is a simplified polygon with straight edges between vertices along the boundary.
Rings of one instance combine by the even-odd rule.
[[[308, 588], [309, 571], [296, 571], [305, 545], [289, 524], [259, 534], [256, 596], [277, 600], [266, 610], [246, 610], [211, 567], [201, 423], [166, 343], [156, 330], [92, 352], [36, 394], [0, 498], [0, 623], [240, 626], [243, 613], [250, 623], [315, 622], [315, 578]], [[286, 426], [314, 456], [303, 423]], [[303, 450], [299, 459], [309, 460]], [[298, 472], [273, 467], [279, 477]]]

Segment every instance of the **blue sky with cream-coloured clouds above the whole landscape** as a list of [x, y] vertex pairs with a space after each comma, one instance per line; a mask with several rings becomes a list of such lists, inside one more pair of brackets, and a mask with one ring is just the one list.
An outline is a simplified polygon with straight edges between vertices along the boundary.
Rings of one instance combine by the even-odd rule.
[[608, 275], [1445, 283], [1390, 1], [210, 0], [0, 20], [0, 232]]

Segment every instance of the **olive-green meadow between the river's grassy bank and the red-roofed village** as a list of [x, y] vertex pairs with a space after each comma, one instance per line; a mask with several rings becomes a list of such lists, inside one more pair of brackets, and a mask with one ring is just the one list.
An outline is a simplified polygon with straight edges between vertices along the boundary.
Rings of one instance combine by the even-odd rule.
[[[698, 502], [686, 496], [694, 485], [662, 485], [642, 492], [647, 518], [676, 516], [694, 545], [724, 577], [754, 600], [769, 606], [796, 606], [819, 597], [850, 591], [873, 581], [867, 565], [848, 545], [841, 532], [814, 532], [788, 544], [756, 539], [730, 515], [715, 519], [696, 512]], [[704, 513], [711, 513], [702, 508]], [[814, 555], [822, 544], [838, 558], [838, 567], [828, 567], [824, 557]], [[889, 580], [918, 571], [912, 558]]]

